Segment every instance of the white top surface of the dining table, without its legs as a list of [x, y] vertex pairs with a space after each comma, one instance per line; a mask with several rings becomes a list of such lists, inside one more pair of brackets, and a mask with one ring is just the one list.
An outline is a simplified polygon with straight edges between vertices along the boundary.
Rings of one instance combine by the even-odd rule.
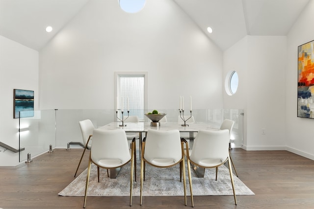
[[160, 126], [151, 126], [151, 122], [126, 122], [124, 125], [119, 126], [122, 122], [111, 122], [107, 125], [99, 127], [100, 129], [114, 130], [124, 129], [126, 132], [147, 132], [149, 129], [154, 130], [173, 130], [177, 129], [180, 132], [198, 132], [199, 130], [217, 130], [208, 123], [203, 122], [191, 122], [187, 123], [188, 126], [182, 126], [177, 122], [161, 122]]

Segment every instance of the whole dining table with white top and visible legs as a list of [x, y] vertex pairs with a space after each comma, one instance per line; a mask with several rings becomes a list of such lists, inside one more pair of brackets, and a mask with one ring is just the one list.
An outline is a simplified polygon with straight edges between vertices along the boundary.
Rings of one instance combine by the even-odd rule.
[[[151, 122], [111, 122], [104, 126], [99, 127], [99, 129], [105, 129], [105, 130], [115, 130], [115, 129], [123, 129], [125, 132], [133, 132], [133, 133], [139, 133], [139, 149], [141, 150], [141, 140], [143, 134], [145, 134], [148, 130], [154, 129], [154, 130], [179, 130], [180, 133], [189, 133], [189, 137], [187, 139], [190, 140], [190, 144], [193, 144], [194, 134], [197, 133], [199, 130], [218, 130], [217, 128], [212, 127], [209, 123], [206, 122], [191, 122], [188, 124], [182, 124], [179, 122], [160, 122], [159, 126], [152, 126]], [[190, 149], [192, 148], [192, 145]], [[140, 155], [140, 152], [139, 152]], [[195, 170], [198, 177], [202, 178], [204, 177], [204, 168], [196, 167], [192, 165], [193, 169]], [[110, 178], [114, 179], [119, 173], [118, 169], [110, 169]]]

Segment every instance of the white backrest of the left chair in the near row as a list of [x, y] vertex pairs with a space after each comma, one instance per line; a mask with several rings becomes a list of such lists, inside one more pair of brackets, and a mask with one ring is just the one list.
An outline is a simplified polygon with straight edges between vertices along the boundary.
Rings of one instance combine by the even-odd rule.
[[94, 129], [91, 159], [98, 163], [104, 159], [119, 159], [121, 164], [131, 159], [126, 132], [123, 129]]

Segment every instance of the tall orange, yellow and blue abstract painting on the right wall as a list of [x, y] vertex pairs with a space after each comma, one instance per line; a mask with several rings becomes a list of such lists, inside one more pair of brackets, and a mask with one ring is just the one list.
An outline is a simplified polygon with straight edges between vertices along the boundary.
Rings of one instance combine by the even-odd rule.
[[298, 46], [298, 117], [314, 118], [314, 41]]

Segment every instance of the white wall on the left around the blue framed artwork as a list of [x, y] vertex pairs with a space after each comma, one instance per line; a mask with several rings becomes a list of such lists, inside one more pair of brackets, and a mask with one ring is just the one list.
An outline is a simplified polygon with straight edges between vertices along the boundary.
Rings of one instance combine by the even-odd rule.
[[[0, 36], [0, 141], [19, 149], [19, 119], [13, 118], [13, 89], [33, 90], [34, 109], [38, 110], [38, 51]], [[19, 164], [17, 153], [3, 147], [0, 151], [0, 166]]]

